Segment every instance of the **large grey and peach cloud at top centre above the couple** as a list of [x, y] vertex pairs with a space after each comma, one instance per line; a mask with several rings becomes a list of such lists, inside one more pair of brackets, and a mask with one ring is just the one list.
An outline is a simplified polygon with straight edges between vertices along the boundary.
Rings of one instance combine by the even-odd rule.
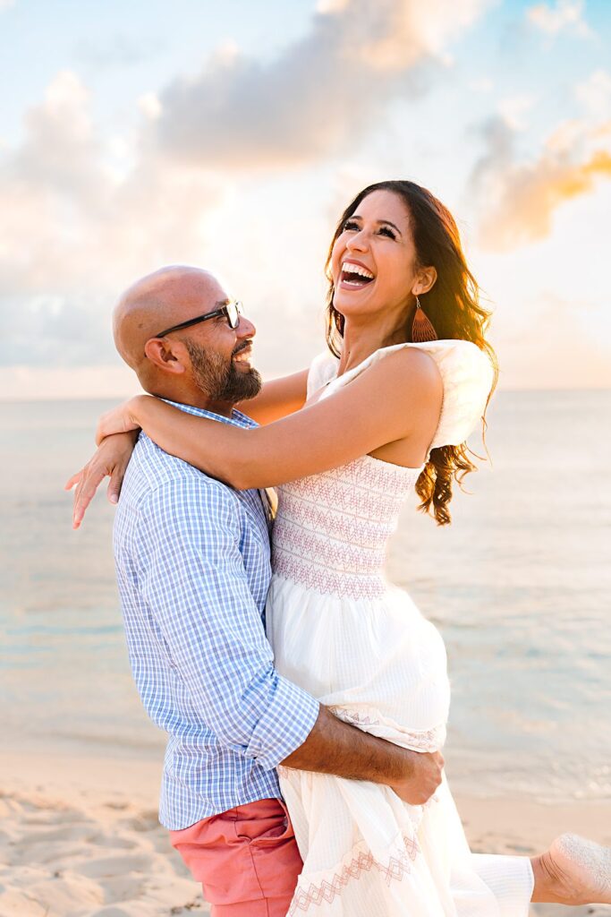
[[238, 50], [159, 94], [152, 136], [183, 161], [245, 169], [322, 160], [370, 135], [393, 98], [422, 94], [446, 45], [489, 0], [325, 3], [274, 61]]

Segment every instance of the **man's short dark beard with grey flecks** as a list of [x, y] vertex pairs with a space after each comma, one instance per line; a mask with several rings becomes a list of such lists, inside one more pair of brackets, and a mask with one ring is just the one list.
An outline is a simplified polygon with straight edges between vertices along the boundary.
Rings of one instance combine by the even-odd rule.
[[[263, 381], [257, 370], [238, 370], [233, 359], [225, 359], [214, 350], [207, 350], [188, 337], [184, 340], [191, 358], [193, 379], [211, 401], [236, 404], [254, 398], [261, 391]], [[235, 348], [239, 353], [243, 347]]]

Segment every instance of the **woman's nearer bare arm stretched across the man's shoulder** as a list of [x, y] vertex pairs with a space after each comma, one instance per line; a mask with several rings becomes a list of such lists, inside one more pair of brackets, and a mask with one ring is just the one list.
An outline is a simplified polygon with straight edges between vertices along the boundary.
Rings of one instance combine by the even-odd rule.
[[171, 455], [246, 490], [337, 468], [408, 438], [420, 464], [441, 406], [442, 379], [434, 361], [408, 348], [377, 360], [333, 395], [267, 426], [220, 424], [139, 395], [104, 414], [98, 441], [140, 426]]

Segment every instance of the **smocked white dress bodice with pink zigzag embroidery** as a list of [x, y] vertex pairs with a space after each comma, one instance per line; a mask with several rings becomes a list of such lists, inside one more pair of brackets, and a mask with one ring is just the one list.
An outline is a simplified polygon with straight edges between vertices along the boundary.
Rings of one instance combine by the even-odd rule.
[[274, 573], [323, 594], [379, 598], [388, 538], [419, 475], [365, 456], [279, 488]]

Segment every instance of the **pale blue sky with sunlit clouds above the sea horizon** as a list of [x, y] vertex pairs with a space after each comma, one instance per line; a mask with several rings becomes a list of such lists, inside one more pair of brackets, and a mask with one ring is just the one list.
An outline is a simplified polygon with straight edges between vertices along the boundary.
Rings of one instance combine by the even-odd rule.
[[501, 387], [611, 386], [610, 47], [608, 0], [0, 0], [0, 398], [135, 392], [112, 309], [164, 264], [303, 369], [387, 178], [453, 211]]

